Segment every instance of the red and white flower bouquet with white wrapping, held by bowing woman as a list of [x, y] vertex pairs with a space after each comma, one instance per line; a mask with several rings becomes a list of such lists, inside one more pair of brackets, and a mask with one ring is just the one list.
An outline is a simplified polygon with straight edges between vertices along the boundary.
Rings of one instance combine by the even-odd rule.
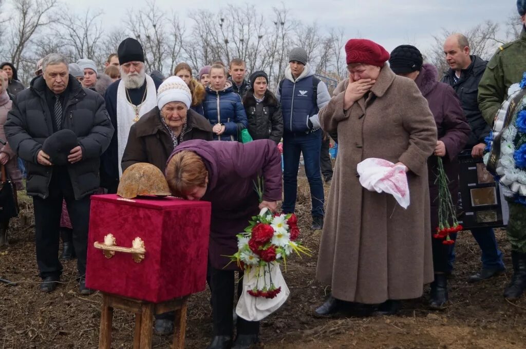
[[237, 234], [238, 251], [231, 255], [244, 269], [243, 293], [236, 313], [249, 321], [259, 321], [279, 308], [289, 295], [280, 264], [287, 265], [291, 253], [309, 255], [310, 250], [296, 239], [298, 219], [292, 214], [272, 215], [267, 208], [252, 217], [244, 233]]

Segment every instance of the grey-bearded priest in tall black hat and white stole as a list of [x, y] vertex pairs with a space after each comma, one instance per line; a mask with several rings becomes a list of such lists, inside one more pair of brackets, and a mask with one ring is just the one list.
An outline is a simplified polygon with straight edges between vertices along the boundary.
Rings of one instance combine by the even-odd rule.
[[157, 106], [157, 88], [163, 82], [145, 73], [143, 46], [127, 38], [117, 49], [120, 79], [106, 90], [106, 109], [115, 132], [109, 148], [102, 156], [101, 186], [108, 193], [116, 193], [122, 176], [120, 160], [128, 141], [128, 134], [141, 116]]

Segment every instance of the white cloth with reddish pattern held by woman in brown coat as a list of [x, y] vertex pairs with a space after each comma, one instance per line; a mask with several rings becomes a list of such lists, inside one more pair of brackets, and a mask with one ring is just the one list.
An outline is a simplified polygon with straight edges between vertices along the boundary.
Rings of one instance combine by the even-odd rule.
[[357, 166], [360, 184], [369, 191], [385, 192], [395, 197], [401, 207], [409, 206], [409, 185], [406, 167], [391, 161], [368, 158]]

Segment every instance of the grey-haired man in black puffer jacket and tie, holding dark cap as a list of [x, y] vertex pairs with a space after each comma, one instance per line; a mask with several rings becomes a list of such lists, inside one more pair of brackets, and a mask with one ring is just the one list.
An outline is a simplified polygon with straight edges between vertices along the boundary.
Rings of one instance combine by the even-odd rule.
[[[93, 290], [86, 288], [84, 279], [89, 196], [99, 187], [100, 155], [109, 145], [113, 126], [104, 98], [69, 75], [63, 55], [47, 55], [43, 70], [43, 76], [34, 78], [31, 87], [15, 97], [4, 130], [11, 148], [27, 164], [27, 194], [33, 196], [37, 264], [43, 279], [41, 291], [53, 291], [62, 273], [58, 238], [65, 199], [73, 223], [80, 293], [90, 294]], [[57, 131], [60, 134], [54, 135]], [[73, 138], [73, 145], [66, 146], [64, 133]], [[47, 146], [56, 152], [47, 150]]]

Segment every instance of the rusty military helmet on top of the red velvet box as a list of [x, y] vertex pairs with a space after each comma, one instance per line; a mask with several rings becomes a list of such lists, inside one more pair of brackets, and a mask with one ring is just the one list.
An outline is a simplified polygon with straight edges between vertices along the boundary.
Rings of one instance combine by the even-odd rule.
[[134, 163], [120, 178], [117, 195], [131, 199], [143, 195], [168, 196], [168, 183], [163, 172], [155, 165], [146, 162]]

